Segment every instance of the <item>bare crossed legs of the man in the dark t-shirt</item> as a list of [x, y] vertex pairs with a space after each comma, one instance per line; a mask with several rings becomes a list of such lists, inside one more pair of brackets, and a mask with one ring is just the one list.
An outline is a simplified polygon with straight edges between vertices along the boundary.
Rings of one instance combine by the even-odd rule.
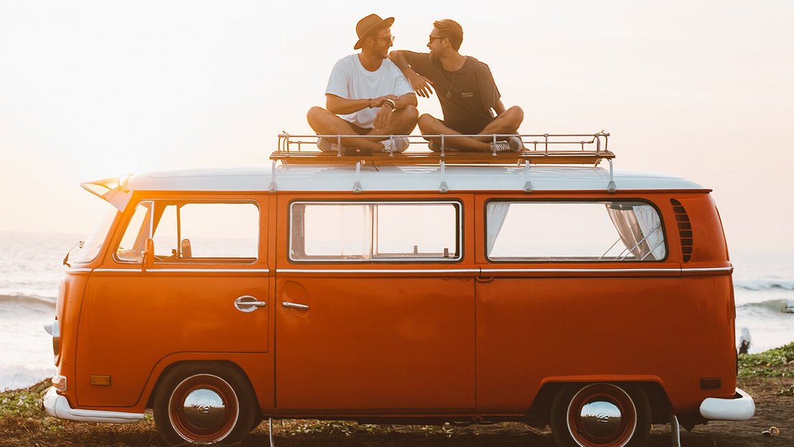
[[[451, 147], [466, 151], [473, 152], [490, 152], [491, 151], [491, 137], [494, 133], [518, 133], [518, 126], [524, 119], [524, 111], [521, 107], [512, 106], [494, 118], [484, 129], [480, 131], [482, 137], [449, 137], [449, 135], [460, 135], [457, 130], [450, 129], [443, 122], [429, 114], [423, 114], [419, 117], [419, 130], [423, 134], [430, 135], [446, 135], [444, 138], [445, 147]], [[437, 145], [441, 145], [440, 137], [428, 137], [430, 141], [434, 141]]]

